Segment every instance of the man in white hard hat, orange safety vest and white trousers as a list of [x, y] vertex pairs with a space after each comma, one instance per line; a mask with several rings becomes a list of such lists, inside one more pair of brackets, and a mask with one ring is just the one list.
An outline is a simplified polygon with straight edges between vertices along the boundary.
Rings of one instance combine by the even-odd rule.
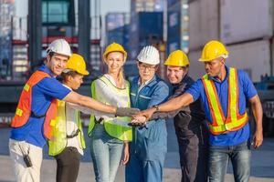
[[30, 76], [22, 90], [15, 117], [11, 122], [9, 140], [16, 181], [40, 181], [42, 150], [47, 139], [52, 139], [58, 99], [117, 116], [131, 115], [131, 111], [136, 111], [103, 105], [59, 83], [56, 76], [66, 68], [70, 56], [70, 46], [66, 40], [53, 41], [47, 48], [46, 64]]

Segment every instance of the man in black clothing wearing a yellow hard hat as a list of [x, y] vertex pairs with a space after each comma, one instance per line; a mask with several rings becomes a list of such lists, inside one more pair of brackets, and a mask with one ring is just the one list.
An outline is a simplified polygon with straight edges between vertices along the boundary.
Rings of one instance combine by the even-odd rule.
[[[195, 83], [193, 78], [188, 76], [189, 60], [183, 51], [172, 52], [164, 65], [167, 78], [172, 85], [171, 97], [181, 96]], [[179, 144], [181, 181], [206, 181], [208, 130], [200, 99], [190, 106], [185, 106], [174, 116], [174, 127]]]

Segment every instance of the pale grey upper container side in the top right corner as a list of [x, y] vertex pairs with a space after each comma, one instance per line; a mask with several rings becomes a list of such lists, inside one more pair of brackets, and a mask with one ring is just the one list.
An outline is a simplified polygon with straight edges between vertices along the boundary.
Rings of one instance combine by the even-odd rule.
[[226, 44], [273, 35], [273, 0], [222, 0], [221, 39]]

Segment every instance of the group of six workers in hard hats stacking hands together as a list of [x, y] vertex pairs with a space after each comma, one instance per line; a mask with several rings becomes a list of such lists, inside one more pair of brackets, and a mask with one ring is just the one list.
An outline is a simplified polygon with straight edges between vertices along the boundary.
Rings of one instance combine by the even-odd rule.
[[[56, 158], [58, 182], [76, 181], [86, 147], [80, 112], [90, 114], [88, 136], [96, 181], [112, 182], [120, 163], [127, 182], [163, 181], [167, 152], [166, 121], [174, 118], [182, 182], [224, 181], [231, 159], [236, 181], [250, 176], [250, 145], [262, 144], [262, 108], [248, 75], [226, 65], [228, 51], [209, 41], [199, 61], [205, 76], [188, 76], [181, 50], [164, 65], [169, 84], [156, 75], [159, 51], [146, 45], [136, 58], [139, 76], [123, 76], [127, 52], [112, 43], [102, 59], [108, 67], [91, 83], [91, 97], [75, 92], [89, 75], [79, 54], [64, 39], [47, 48], [45, 64], [30, 76], [21, 93], [9, 140], [16, 181], [39, 181], [42, 148]], [[56, 77], [61, 76], [62, 83]], [[256, 120], [251, 136], [246, 99]]]

